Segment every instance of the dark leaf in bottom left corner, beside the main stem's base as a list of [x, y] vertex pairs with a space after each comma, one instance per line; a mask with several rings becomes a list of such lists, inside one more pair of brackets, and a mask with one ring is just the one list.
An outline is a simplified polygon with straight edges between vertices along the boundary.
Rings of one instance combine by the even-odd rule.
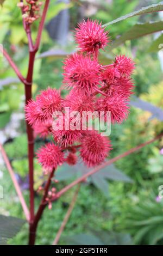
[[0, 215], [0, 245], [7, 245], [8, 239], [15, 236], [24, 223], [20, 218]]

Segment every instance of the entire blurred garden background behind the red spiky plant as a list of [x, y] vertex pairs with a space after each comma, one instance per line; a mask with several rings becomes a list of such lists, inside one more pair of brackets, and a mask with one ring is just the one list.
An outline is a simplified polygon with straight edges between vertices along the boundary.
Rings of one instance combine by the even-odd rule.
[[[20, 66], [23, 74], [27, 68], [28, 51], [27, 39], [21, 23], [21, 12], [16, 7], [17, 2], [17, 0], [5, 0], [3, 7], [0, 7], [0, 42]], [[62, 60], [66, 53], [74, 51], [73, 29], [79, 21], [90, 17], [106, 23], [156, 3], [159, 1], [58, 2], [52, 0], [46, 29], [43, 31], [41, 50], [37, 54], [35, 63], [34, 96], [39, 90], [48, 86], [60, 88]], [[112, 43], [106, 52], [101, 53], [101, 62], [109, 62], [117, 53], [132, 56], [136, 62], [133, 76], [135, 95], [142, 100], [139, 102], [139, 108], [131, 106], [126, 122], [112, 126], [110, 138], [114, 150], [110, 157], [148, 141], [163, 130], [163, 115], [161, 118], [163, 112], [158, 115], [163, 108], [163, 58], [158, 48], [161, 40], [163, 43], [162, 34], [149, 33], [140, 38], [141, 29], [135, 28], [140, 26], [136, 24], [143, 23], [144, 31], [146, 29], [148, 31], [146, 26], [152, 21], [156, 22], [154, 31], [156, 32], [157, 26], [160, 26], [157, 22], [163, 22], [162, 17], [162, 12], [135, 16], [106, 28], [110, 31]], [[37, 23], [33, 29], [35, 36]], [[133, 29], [137, 29], [136, 36], [131, 34]], [[120, 39], [120, 35], [126, 36]], [[0, 142], [4, 143], [15, 175], [28, 200], [27, 139], [23, 121], [24, 90], [7, 61], [0, 57], [0, 62]], [[63, 94], [65, 93], [63, 91]], [[155, 106], [152, 111], [149, 107], [151, 105], [143, 105], [144, 101]], [[36, 138], [35, 150], [41, 143], [43, 142]], [[163, 185], [163, 153], [161, 154], [160, 151], [162, 148], [163, 139], [124, 157], [114, 166], [107, 167], [111, 172], [109, 177], [105, 172], [99, 172], [98, 176], [93, 175], [84, 182], [59, 244], [85, 245], [87, 242], [88, 245], [163, 245], [163, 199], [158, 198], [158, 187]], [[2, 162], [0, 168], [0, 184], [4, 190], [4, 198], [0, 199], [0, 214], [24, 218], [9, 174]], [[73, 180], [79, 175], [79, 170], [81, 172], [85, 170], [80, 163], [76, 168], [69, 169], [63, 166], [58, 169], [57, 178], [60, 182], [57, 188]], [[42, 182], [41, 167], [35, 161], [35, 189]], [[39, 224], [37, 245], [52, 244], [73, 193], [74, 190], [68, 191], [53, 204], [52, 210], [46, 209]], [[37, 192], [35, 197], [39, 204], [40, 197]], [[26, 245], [27, 228], [27, 224], [24, 224], [21, 231], [8, 242], [14, 245]]]

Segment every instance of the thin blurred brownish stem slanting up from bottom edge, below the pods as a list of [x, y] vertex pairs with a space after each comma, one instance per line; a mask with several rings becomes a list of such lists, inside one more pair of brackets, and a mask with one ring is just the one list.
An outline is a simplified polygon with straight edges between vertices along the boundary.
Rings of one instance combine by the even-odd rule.
[[79, 190], [80, 190], [80, 184], [78, 184], [77, 189], [76, 189], [76, 191], [74, 192], [73, 198], [72, 198], [72, 200], [71, 200], [71, 204], [70, 204], [70, 206], [68, 207], [68, 210], [67, 210], [67, 212], [66, 212], [66, 215], [65, 215], [65, 217], [64, 217], [64, 220], [62, 221], [62, 224], [61, 224], [61, 226], [60, 226], [60, 229], [58, 230], [58, 233], [57, 233], [57, 235], [55, 236], [53, 245], [57, 245], [58, 242], [59, 242], [60, 236], [61, 236], [62, 232], [64, 231], [64, 229], [65, 229], [65, 227], [66, 227], [66, 224], [67, 224], [67, 222], [68, 222], [68, 220], [69, 220], [69, 218], [70, 218], [70, 215], [71, 215], [71, 213], [72, 213], [72, 210], [73, 210], [73, 208], [74, 208], [74, 205], [76, 204]]

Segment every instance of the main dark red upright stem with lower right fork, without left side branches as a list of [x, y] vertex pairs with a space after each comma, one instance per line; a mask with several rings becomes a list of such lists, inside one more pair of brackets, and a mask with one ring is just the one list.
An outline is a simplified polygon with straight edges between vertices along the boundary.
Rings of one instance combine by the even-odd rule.
[[[27, 74], [27, 83], [25, 84], [25, 90], [26, 90], [26, 103], [28, 100], [32, 97], [32, 81], [33, 81], [33, 69], [34, 69], [34, 60], [35, 60], [35, 53], [39, 49], [40, 46], [40, 40], [42, 35], [43, 26], [45, 23], [45, 18], [47, 14], [49, 6], [49, 0], [46, 0], [43, 13], [41, 17], [41, 22], [39, 26], [39, 31], [36, 38], [35, 46], [33, 46], [33, 50], [30, 51], [29, 54], [29, 65], [28, 65], [28, 74]], [[27, 33], [28, 34], [28, 33]], [[30, 34], [30, 31], [29, 31]], [[28, 40], [31, 39], [31, 36], [28, 37]], [[32, 40], [32, 39], [31, 39]], [[32, 44], [32, 42], [29, 41], [29, 45]], [[29, 157], [29, 190], [30, 190], [30, 226], [29, 226], [29, 245], [34, 245], [35, 243], [35, 236], [36, 236], [36, 228], [37, 224], [41, 218], [42, 212], [45, 209], [45, 206], [41, 202], [39, 206], [39, 210], [37, 211], [36, 216], [34, 216], [34, 169], [33, 169], [33, 157], [34, 157], [34, 138], [33, 138], [33, 130], [32, 127], [27, 122], [27, 135], [28, 135], [28, 157]], [[54, 172], [51, 173], [53, 175]], [[45, 188], [45, 195], [42, 198], [43, 202], [47, 196], [47, 192], [49, 189], [49, 186], [51, 185], [51, 175], [49, 176], [49, 179], [46, 184]]]

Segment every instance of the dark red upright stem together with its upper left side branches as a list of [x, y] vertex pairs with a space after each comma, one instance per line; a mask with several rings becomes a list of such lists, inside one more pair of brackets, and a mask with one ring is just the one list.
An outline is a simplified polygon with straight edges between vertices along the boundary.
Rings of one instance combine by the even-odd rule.
[[[41, 22], [40, 22], [35, 46], [33, 46], [30, 27], [27, 26], [27, 24], [23, 20], [23, 26], [27, 33], [28, 45], [29, 45], [29, 64], [28, 64], [28, 73], [27, 73], [26, 79], [22, 76], [20, 70], [17, 68], [16, 64], [12, 61], [12, 59], [10, 58], [8, 53], [5, 50], [3, 50], [3, 47], [0, 45], [0, 51], [4, 54], [5, 58], [7, 58], [10, 66], [12, 67], [12, 69], [14, 69], [16, 75], [18, 76], [18, 78], [20, 78], [20, 80], [23, 82], [23, 84], [25, 86], [26, 103], [28, 103], [28, 101], [32, 98], [32, 82], [33, 82], [33, 69], [34, 69], [35, 54], [40, 46], [40, 40], [41, 40], [42, 30], [43, 30], [48, 6], [49, 6], [49, 0], [46, 0], [44, 8], [43, 8], [43, 13], [42, 13], [42, 17], [41, 17]], [[37, 223], [39, 222], [42, 212], [45, 208], [45, 205], [42, 203], [40, 204], [39, 210], [37, 211], [37, 214], [36, 214], [36, 218], [34, 219], [34, 168], [33, 168], [34, 137], [33, 137], [32, 127], [27, 122], [26, 122], [26, 125], [27, 125], [27, 137], [28, 137], [29, 191], [30, 191], [29, 244], [34, 245], [35, 230], [37, 227]], [[50, 184], [51, 184], [51, 179], [48, 180], [48, 182], [47, 182], [46, 191], [48, 191]], [[45, 194], [46, 194], [46, 192], [45, 192]]]

